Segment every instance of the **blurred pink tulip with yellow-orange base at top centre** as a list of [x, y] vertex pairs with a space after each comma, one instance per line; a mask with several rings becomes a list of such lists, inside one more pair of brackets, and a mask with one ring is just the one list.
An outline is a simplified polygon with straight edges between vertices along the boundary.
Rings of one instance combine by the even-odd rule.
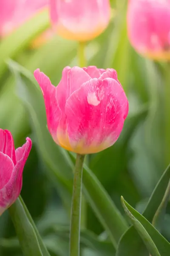
[[50, 0], [54, 29], [66, 39], [88, 41], [101, 34], [110, 19], [109, 0]]

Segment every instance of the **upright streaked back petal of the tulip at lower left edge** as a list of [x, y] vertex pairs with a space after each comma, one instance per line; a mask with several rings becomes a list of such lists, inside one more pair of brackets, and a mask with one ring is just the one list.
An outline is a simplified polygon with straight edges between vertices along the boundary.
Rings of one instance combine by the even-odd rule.
[[0, 129], [0, 152], [8, 155], [11, 158], [14, 165], [16, 164], [15, 148], [13, 137], [8, 130]]

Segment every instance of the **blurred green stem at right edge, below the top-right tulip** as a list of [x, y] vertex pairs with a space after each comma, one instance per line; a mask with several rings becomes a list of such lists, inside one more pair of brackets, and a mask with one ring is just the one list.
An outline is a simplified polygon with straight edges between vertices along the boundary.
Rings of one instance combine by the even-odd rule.
[[170, 62], [165, 67], [165, 87], [164, 87], [164, 125], [165, 125], [165, 165], [170, 163]]

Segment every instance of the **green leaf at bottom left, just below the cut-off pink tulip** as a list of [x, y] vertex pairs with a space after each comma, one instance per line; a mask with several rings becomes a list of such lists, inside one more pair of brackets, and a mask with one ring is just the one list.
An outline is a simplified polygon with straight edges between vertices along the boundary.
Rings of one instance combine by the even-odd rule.
[[8, 209], [25, 256], [50, 256], [21, 197]]

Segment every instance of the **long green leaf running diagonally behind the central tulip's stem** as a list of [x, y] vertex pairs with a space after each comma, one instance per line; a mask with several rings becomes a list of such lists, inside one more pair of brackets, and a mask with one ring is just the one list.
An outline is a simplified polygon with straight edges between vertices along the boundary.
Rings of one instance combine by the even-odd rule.
[[[70, 158], [66, 151], [55, 145], [48, 134], [45, 125], [46, 118], [45, 108], [42, 105], [42, 95], [40, 90], [37, 89], [34, 77], [28, 70], [14, 61], [8, 61], [8, 64], [15, 73], [17, 86], [20, 86], [18, 94], [26, 104], [31, 115], [32, 127], [36, 133], [37, 146], [40, 149], [40, 153], [45, 163], [48, 164], [49, 171], [57, 182], [57, 187], [62, 186], [64, 190], [67, 190], [67, 199], [71, 202], [72, 179], [69, 179], [69, 177], [72, 175], [75, 159]], [[28, 80], [29, 84], [27, 84]], [[120, 237], [127, 230], [125, 219], [114, 205], [102, 184], [87, 166], [84, 166], [83, 184], [86, 199], [110, 234], [113, 245], [116, 247]], [[60, 195], [62, 198], [62, 192], [60, 192]], [[99, 198], [100, 200], [98, 200]]]

